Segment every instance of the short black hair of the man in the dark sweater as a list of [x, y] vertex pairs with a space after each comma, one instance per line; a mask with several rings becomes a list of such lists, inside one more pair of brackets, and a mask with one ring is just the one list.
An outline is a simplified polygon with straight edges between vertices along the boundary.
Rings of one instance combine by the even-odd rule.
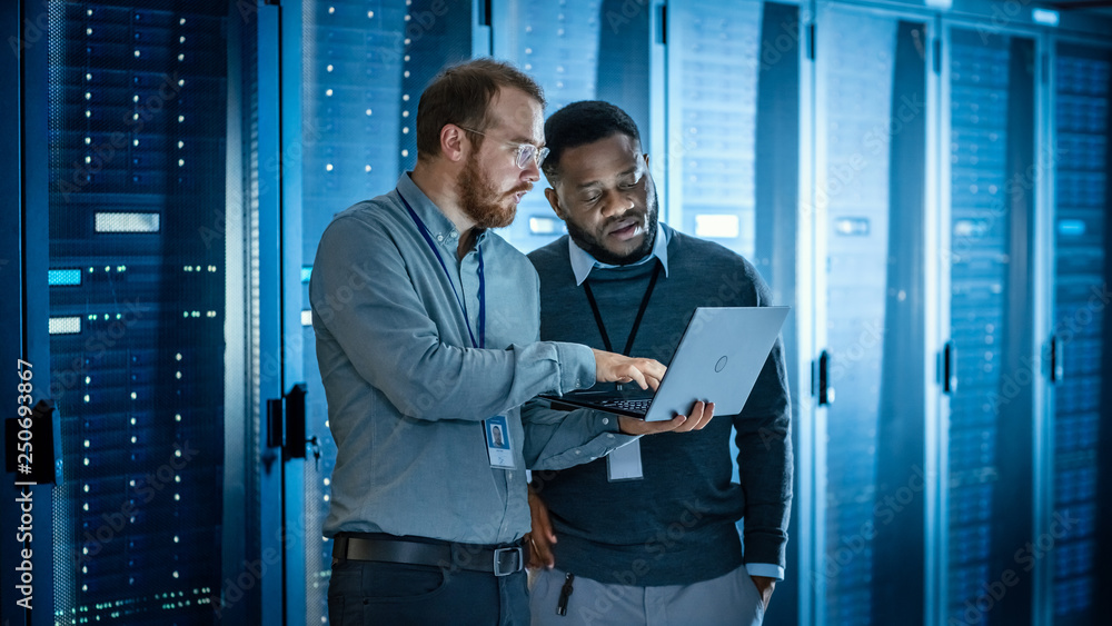
[[616, 133], [625, 135], [641, 146], [641, 133], [633, 118], [622, 109], [602, 100], [572, 102], [556, 111], [545, 122], [545, 146], [548, 158], [544, 170], [549, 182], [559, 178], [559, 159], [564, 150], [594, 143]]

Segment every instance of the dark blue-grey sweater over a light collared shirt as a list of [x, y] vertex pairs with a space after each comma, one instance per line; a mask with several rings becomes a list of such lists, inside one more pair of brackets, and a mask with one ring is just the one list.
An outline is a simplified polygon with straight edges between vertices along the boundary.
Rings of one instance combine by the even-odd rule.
[[[540, 276], [540, 338], [603, 349], [567, 236], [529, 254]], [[595, 268], [587, 281], [615, 350], [629, 336], [658, 261]], [[768, 287], [738, 255], [673, 231], [661, 277], [631, 350], [667, 365], [695, 307], [766, 306]], [[744, 332], [744, 328], [738, 328]], [[731, 481], [731, 426], [737, 429], [741, 485]], [[735, 523], [745, 518], [747, 563], [784, 566], [792, 500], [791, 401], [777, 340], [738, 416], [715, 416], [698, 433], [641, 439], [643, 480], [609, 483], [606, 459], [534, 473], [552, 511], [556, 566], [623, 585], [686, 585], [743, 562]]]

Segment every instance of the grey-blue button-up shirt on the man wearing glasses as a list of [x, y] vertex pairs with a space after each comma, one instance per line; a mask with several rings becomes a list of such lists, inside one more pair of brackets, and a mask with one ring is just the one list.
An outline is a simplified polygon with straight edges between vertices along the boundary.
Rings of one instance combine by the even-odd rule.
[[[554, 411], [533, 399], [594, 385], [594, 356], [577, 344], [538, 341], [539, 285], [524, 255], [484, 231], [459, 259], [458, 241], [408, 173], [394, 191], [337, 215], [321, 237], [309, 300], [338, 447], [326, 536], [513, 541], [530, 526], [526, 467], [563, 469], [634, 439], [614, 416]], [[468, 334], [469, 322], [479, 340], [480, 252], [481, 349]], [[509, 425], [514, 469], [493, 468], [487, 457], [481, 420], [496, 415]]]

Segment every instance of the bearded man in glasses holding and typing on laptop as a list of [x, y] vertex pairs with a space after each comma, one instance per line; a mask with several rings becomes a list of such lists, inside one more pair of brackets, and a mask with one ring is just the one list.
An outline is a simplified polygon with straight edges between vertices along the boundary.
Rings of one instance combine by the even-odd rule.
[[536, 271], [489, 229], [540, 177], [543, 107], [507, 64], [446, 69], [417, 107], [417, 166], [321, 237], [309, 298], [337, 445], [332, 624], [527, 624], [526, 468], [713, 415], [699, 403], [646, 424], [530, 400], [664, 375], [653, 359], [538, 341]]

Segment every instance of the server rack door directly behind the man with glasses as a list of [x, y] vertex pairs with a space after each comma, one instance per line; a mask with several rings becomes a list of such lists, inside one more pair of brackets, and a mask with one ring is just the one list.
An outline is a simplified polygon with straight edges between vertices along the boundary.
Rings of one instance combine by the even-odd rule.
[[[300, 232], [287, 239], [287, 265], [299, 259], [300, 335], [288, 339], [307, 385], [306, 459], [301, 504], [287, 507], [287, 526], [304, 528], [305, 613], [289, 623], [322, 624], [331, 543], [321, 539], [328, 515], [336, 444], [316, 360], [308, 285], [320, 236], [331, 217], [387, 193], [416, 162], [417, 102], [444, 66], [470, 58], [477, 13], [471, 2], [310, 0], [284, 7], [282, 64], [294, 88], [284, 95], [284, 213]], [[298, 76], [289, 76], [299, 66]], [[291, 182], [295, 179], [296, 182]], [[299, 547], [300, 549], [300, 547]], [[292, 597], [292, 593], [290, 593]]]

